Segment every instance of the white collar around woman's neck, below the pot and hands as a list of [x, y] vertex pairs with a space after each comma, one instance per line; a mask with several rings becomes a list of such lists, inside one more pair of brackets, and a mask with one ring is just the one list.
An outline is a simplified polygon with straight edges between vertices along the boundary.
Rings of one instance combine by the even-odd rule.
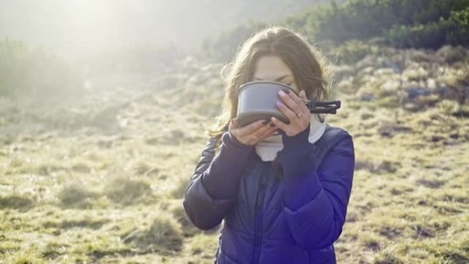
[[[324, 115], [325, 119], [326, 115]], [[309, 137], [308, 141], [315, 143], [321, 138], [326, 130], [326, 121], [321, 123], [317, 118], [316, 114], [311, 114], [311, 121], [309, 122]], [[263, 141], [259, 141], [256, 144], [256, 153], [263, 161], [274, 160], [279, 152], [283, 148], [282, 134], [269, 136]]]

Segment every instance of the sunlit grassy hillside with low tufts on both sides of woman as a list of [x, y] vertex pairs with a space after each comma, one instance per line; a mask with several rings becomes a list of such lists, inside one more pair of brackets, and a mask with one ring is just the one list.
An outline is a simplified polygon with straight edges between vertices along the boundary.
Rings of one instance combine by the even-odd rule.
[[[335, 67], [327, 120], [357, 159], [338, 263], [468, 263], [468, 52]], [[183, 65], [112, 92], [1, 99], [0, 263], [213, 263], [218, 230], [192, 226], [182, 197], [221, 65]]]

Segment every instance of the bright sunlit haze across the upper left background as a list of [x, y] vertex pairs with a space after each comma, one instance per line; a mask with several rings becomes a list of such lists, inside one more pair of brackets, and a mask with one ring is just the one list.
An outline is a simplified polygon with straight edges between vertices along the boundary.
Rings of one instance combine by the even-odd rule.
[[73, 57], [121, 47], [195, 47], [250, 19], [273, 22], [322, 1], [0, 0], [0, 37]]

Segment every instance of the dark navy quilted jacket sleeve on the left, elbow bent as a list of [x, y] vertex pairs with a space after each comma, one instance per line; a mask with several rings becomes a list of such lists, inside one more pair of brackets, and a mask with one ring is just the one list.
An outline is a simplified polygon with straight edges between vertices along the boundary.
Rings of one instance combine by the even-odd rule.
[[221, 223], [237, 197], [237, 187], [254, 145], [238, 141], [230, 131], [221, 137], [215, 155], [215, 139], [208, 139], [184, 193], [183, 206], [192, 223], [209, 230]]

